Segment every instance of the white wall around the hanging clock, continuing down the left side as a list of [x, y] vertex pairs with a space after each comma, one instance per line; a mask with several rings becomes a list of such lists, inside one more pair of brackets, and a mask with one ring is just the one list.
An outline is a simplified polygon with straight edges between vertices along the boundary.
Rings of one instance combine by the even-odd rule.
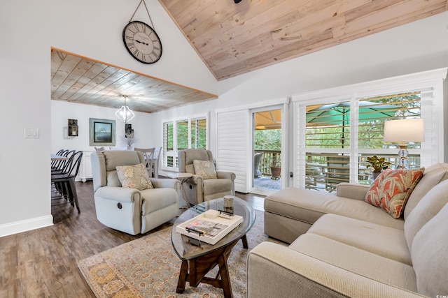
[[[61, 127], [53, 132], [50, 121], [51, 47], [217, 94], [214, 76], [160, 3], [146, 3], [163, 45], [151, 65], [130, 57], [122, 40], [139, 0], [0, 1], [0, 237], [52, 224], [51, 142]], [[137, 16], [149, 22], [144, 6]], [[24, 128], [38, 128], [39, 138], [25, 139]], [[69, 141], [61, 144], [86, 146]]]

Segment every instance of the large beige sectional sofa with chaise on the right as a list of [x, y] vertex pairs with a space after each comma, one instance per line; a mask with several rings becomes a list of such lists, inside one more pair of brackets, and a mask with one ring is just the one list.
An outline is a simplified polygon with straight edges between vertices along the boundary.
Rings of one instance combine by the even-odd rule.
[[287, 188], [265, 198], [248, 297], [447, 297], [448, 164], [426, 167], [402, 216], [365, 202], [369, 186]]

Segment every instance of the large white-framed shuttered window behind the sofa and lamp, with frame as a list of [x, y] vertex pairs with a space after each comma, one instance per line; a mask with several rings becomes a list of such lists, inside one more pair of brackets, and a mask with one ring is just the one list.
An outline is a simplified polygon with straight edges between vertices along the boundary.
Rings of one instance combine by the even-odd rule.
[[[435, 73], [437, 70], [430, 76]], [[446, 69], [438, 75], [436, 80], [403, 83], [412, 76], [397, 77], [293, 98], [297, 124], [295, 186], [331, 192], [341, 182], [371, 184], [368, 156], [385, 157], [395, 168], [399, 146], [383, 140], [387, 120], [424, 120], [425, 142], [407, 147], [409, 168], [442, 161], [443, 128], [437, 119], [442, 119]], [[391, 83], [394, 81], [400, 84]]]

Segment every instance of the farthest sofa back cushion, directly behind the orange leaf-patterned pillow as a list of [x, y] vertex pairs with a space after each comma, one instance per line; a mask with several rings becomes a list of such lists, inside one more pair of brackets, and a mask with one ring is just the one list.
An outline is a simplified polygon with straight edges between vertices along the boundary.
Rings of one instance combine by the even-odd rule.
[[440, 181], [445, 179], [448, 179], [448, 163], [435, 163], [434, 165], [425, 167], [423, 177], [421, 177], [419, 184], [415, 186], [414, 191], [412, 191], [407, 199], [405, 211], [403, 212], [405, 220], [423, 196], [426, 195], [431, 188], [440, 183]]

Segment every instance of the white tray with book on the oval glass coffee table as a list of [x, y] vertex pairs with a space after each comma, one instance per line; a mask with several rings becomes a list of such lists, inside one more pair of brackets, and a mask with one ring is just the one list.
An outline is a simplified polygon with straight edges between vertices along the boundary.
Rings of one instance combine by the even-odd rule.
[[189, 221], [176, 226], [176, 232], [208, 244], [216, 244], [226, 234], [243, 222], [243, 217], [234, 215], [231, 218], [207, 218], [200, 214]]

